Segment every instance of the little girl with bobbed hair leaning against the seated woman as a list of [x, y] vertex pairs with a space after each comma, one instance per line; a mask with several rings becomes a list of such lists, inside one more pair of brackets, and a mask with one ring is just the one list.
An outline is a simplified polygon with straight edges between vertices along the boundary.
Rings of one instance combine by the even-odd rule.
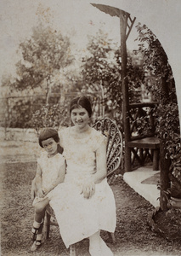
[[39, 135], [39, 144], [45, 151], [37, 159], [37, 196], [32, 204], [35, 218], [31, 230], [31, 240], [34, 242], [31, 251], [36, 251], [42, 244], [42, 223], [48, 202], [43, 207], [41, 202], [46, 202], [48, 193], [62, 183], [65, 177], [65, 159], [61, 154], [63, 150], [59, 145], [58, 132], [54, 128], [43, 129]]

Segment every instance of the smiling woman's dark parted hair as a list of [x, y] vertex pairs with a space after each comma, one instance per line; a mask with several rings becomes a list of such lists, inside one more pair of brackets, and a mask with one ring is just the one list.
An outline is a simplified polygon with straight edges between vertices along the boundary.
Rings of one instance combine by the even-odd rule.
[[79, 96], [74, 98], [71, 101], [70, 113], [73, 109], [80, 108], [80, 107], [85, 108], [88, 111], [88, 116], [91, 117], [93, 112], [92, 106], [91, 106], [91, 102], [86, 96]]

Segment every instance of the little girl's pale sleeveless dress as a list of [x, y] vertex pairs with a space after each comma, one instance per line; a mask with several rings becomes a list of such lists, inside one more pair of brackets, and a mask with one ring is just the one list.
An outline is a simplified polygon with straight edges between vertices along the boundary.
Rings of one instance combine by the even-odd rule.
[[[55, 154], [53, 157], [48, 157], [48, 153], [43, 151], [40, 157], [37, 159], [37, 164], [42, 170], [42, 190], [46, 193], [59, 176], [59, 167], [63, 166], [65, 163], [65, 158], [62, 154]], [[48, 197], [46, 195], [45, 197]], [[45, 199], [36, 197], [32, 203], [34, 206], [38, 201]]]

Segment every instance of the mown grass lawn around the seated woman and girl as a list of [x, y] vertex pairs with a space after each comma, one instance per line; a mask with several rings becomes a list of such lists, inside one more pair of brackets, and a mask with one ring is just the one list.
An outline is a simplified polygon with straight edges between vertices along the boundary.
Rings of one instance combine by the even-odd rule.
[[[37, 253], [31, 253], [30, 189], [36, 163], [7, 163], [1, 166], [1, 255], [69, 255], [59, 236], [59, 229], [51, 227], [50, 239]], [[153, 233], [147, 224], [153, 207], [123, 182], [122, 177], [111, 184], [116, 198], [116, 244], [108, 245], [115, 255], [180, 255], [180, 241], [167, 241]], [[107, 235], [102, 232], [106, 240]], [[79, 256], [88, 256], [88, 240], [77, 244]]]

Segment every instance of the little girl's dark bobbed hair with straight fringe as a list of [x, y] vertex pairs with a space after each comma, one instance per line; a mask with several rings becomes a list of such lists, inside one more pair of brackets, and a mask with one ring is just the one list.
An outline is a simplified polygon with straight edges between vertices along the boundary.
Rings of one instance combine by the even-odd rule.
[[[59, 134], [58, 131], [56, 131], [54, 128], [44, 128], [42, 131], [40, 131], [38, 142], [40, 147], [43, 148], [42, 142], [47, 140], [48, 138], [53, 138], [55, 143], [59, 143]], [[62, 154], [63, 148], [58, 144], [57, 150], [59, 154]]]

